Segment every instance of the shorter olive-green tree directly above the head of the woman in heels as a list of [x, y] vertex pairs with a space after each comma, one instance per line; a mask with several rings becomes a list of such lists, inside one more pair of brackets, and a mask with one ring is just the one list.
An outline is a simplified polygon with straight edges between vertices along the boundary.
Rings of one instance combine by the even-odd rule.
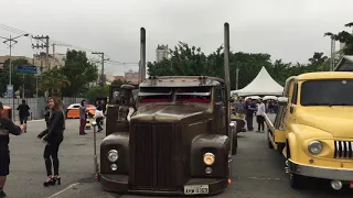
[[71, 85], [72, 82], [62, 74], [61, 68], [53, 67], [41, 76], [39, 91], [49, 91], [51, 96], [62, 96], [62, 90]]

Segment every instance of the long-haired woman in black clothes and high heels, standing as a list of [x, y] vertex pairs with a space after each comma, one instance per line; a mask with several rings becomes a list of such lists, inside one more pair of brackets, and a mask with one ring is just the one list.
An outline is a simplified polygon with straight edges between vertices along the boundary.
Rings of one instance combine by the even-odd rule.
[[[65, 116], [60, 99], [56, 97], [51, 98], [49, 106], [51, 108], [49, 128], [38, 135], [39, 139], [43, 139], [46, 142], [43, 155], [47, 176], [47, 179], [43, 183], [45, 187], [55, 185], [56, 182], [57, 185], [61, 185], [57, 153], [60, 144], [64, 140], [65, 130]], [[54, 175], [52, 173], [52, 165], [54, 167]]]

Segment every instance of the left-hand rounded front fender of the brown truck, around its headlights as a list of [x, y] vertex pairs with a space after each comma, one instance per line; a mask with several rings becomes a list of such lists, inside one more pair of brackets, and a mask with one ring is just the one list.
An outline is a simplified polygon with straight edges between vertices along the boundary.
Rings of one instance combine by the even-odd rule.
[[[118, 161], [108, 161], [108, 152], [118, 151]], [[113, 172], [110, 165], [116, 164], [118, 169]], [[113, 133], [106, 136], [100, 144], [100, 173], [101, 174], [128, 174], [129, 173], [129, 133]]]

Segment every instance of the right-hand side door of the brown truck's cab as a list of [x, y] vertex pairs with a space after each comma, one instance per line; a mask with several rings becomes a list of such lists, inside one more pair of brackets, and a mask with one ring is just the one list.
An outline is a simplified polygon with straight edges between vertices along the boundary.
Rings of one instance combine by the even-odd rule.
[[226, 133], [226, 107], [225, 107], [225, 96], [224, 96], [224, 88], [216, 87], [215, 88], [215, 120], [217, 123], [217, 131], [218, 133], [225, 134]]

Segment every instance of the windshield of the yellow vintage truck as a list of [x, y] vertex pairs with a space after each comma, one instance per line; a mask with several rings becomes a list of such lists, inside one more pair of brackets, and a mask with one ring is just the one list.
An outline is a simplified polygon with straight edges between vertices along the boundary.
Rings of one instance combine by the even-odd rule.
[[353, 80], [311, 80], [301, 84], [301, 106], [353, 106]]

